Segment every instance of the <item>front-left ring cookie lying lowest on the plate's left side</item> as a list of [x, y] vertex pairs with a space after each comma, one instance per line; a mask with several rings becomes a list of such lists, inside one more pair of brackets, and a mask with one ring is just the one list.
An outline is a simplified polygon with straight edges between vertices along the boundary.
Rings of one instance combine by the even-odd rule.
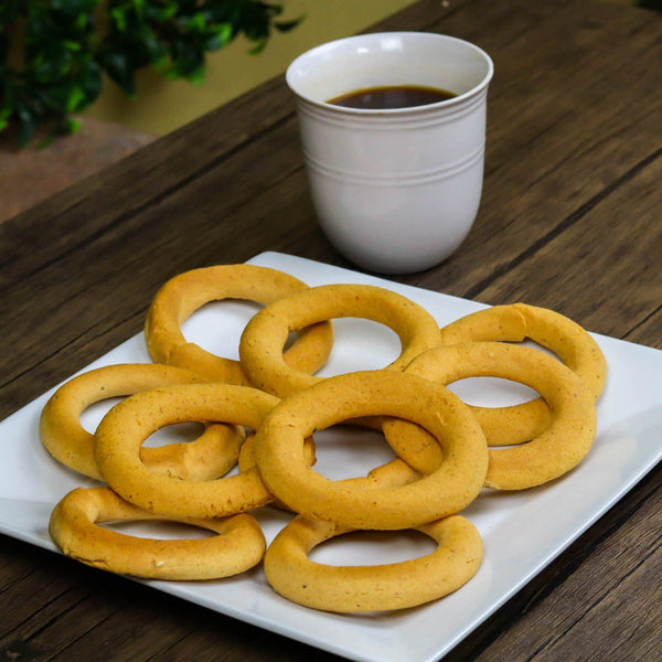
[[[103, 522], [161, 520], [213, 531], [202, 538], [158, 540], [98, 526]], [[256, 520], [243, 513], [224, 520], [154, 515], [109, 488], [77, 488], [51, 514], [55, 544], [86, 565], [149, 579], [197, 580], [237, 575], [256, 566], [266, 542]]]

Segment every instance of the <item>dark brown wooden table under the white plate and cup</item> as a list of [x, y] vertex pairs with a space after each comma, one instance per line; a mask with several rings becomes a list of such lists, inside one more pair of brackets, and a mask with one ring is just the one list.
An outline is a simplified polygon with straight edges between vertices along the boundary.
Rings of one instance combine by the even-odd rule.
[[[378, 28], [460, 36], [495, 64], [476, 225], [448, 261], [397, 280], [525, 300], [662, 349], [660, 15], [592, 1], [424, 0]], [[138, 333], [158, 286], [180, 271], [265, 249], [350, 266], [316, 225], [281, 79], [0, 233], [0, 418]], [[660, 531], [656, 468], [448, 659], [659, 659]], [[0, 659], [309, 655], [335, 659], [0, 537]]]

